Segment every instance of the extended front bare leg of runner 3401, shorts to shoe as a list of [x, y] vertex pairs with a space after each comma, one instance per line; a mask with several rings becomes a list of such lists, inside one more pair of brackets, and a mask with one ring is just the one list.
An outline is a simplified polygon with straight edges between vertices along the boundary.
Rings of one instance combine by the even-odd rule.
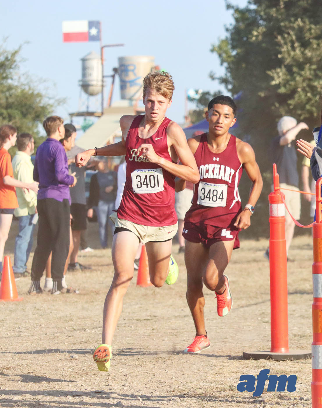
[[114, 277], [104, 302], [102, 344], [112, 344], [115, 328], [123, 306], [123, 297], [134, 273], [134, 259], [139, 238], [130, 231], [114, 235], [112, 259]]

